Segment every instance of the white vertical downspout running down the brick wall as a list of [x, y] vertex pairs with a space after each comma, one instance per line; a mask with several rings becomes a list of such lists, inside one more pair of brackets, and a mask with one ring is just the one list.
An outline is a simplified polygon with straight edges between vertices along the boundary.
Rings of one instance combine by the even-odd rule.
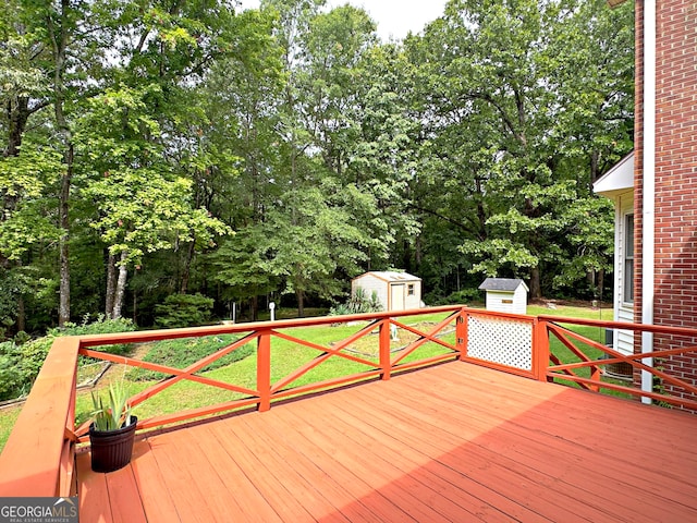
[[[653, 324], [656, 268], [656, 0], [644, 2], [644, 185], [641, 233], [641, 323]], [[641, 333], [641, 353], [652, 352], [653, 333]], [[652, 357], [643, 360], [653, 366]], [[641, 390], [653, 389], [651, 373], [641, 370]], [[644, 403], [651, 399], [643, 397]]]

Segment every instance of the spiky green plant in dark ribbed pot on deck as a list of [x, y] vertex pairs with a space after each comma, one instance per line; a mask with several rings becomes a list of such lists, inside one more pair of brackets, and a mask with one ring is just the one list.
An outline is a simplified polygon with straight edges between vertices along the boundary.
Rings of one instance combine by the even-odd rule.
[[91, 401], [94, 405], [93, 423], [89, 426], [91, 470], [118, 471], [131, 462], [138, 418], [131, 414], [129, 394], [123, 384], [109, 386], [106, 403], [94, 392]]

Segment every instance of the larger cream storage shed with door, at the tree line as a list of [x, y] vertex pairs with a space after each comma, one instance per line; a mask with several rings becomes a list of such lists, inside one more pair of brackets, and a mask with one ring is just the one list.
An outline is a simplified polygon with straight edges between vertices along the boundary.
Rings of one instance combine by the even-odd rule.
[[421, 306], [421, 279], [400, 271], [374, 270], [351, 280], [351, 294], [362, 288], [368, 296], [372, 291], [384, 311], [407, 311]]

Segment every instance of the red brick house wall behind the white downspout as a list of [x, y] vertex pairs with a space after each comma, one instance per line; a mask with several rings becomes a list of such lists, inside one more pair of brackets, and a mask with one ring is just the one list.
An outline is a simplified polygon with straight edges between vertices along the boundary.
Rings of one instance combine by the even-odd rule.
[[[637, 32], [643, 32], [643, 1], [636, 2]], [[697, 1], [657, 2], [656, 83], [656, 287], [657, 325], [697, 328]], [[637, 78], [643, 74], [637, 47]], [[643, 93], [637, 80], [635, 126], [635, 317], [640, 320], [641, 129]], [[655, 348], [695, 345], [697, 340], [657, 336]], [[697, 357], [674, 357], [657, 365], [683, 378], [697, 379]], [[682, 391], [667, 386], [678, 396]]]

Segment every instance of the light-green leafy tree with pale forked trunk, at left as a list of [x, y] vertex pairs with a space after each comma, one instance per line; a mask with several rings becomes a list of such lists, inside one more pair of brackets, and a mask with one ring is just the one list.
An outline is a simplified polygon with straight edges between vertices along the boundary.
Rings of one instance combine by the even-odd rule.
[[[156, 88], [156, 87], [155, 87]], [[129, 265], [145, 253], [171, 248], [179, 242], [211, 242], [228, 232], [206, 209], [192, 205], [192, 181], [162, 161], [160, 126], [149, 114], [150, 89], [108, 90], [95, 97], [81, 121], [76, 138], [102, 172], [86, 173], [83, 194], [96, 204], [91, 226], [108, 245], [107, 317], [121, 317]], [[100, 133], [94, 133], [99, 122]], [[115, 278], [115, 272], [118, 277]], [[113, 276], [112, 276], [113, 275]]]

